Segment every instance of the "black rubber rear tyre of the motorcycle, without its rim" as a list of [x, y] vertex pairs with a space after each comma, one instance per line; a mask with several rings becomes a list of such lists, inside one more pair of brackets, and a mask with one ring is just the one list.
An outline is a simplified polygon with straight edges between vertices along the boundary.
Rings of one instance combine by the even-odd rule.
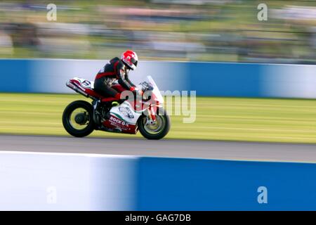
[[[84, 120], [87, 120], [86, 127], [84, 129], [76, 129], [73, 127], [71, 120], [71, 115], [74, 112], [74, 110], [82, 108], [88, 113], [88, 115], [84, 114]], [[82, 120], [82, 117], [80, 118]], [[79, 125], [82, 125], [79, 123]], [[88, 136], [89, 134], [92, 133], [94, 130], [94, 122], [93, 122], [93, 107], [90, 103], [86, 101], [74, 101], [67, 105], [67, 107], [64, 110], [64, 113], [62, 113], [62, 124], [65, 127], [65, 130], [71, 134], [72, 136], [76, 137], [83, 137], [83, 136]], [[78, 123], [77, 123], [78, 124]]]

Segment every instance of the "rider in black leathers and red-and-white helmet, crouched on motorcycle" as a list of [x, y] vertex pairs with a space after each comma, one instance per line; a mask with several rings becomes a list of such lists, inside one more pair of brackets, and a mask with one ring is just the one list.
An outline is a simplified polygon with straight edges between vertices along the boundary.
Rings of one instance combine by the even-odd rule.
[[121, 93], [112, 88], [114, 81], [118, 81], [121, 86], [134, 94], [142, 94], [136, 86], [129, 80], [129, 71], [135, 70], [138, 64], [136, 52], [127, 50], [121, 54], [121, 58], [112, 58], [96, 75], [94, 90], [104, 96], [116, 99], [112, 105], [118, 105], [125, 101], [121, 99]]

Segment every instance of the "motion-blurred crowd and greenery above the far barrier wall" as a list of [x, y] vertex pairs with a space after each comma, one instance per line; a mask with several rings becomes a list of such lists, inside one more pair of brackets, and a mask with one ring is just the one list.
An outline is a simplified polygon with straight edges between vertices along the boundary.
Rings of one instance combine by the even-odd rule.
[[[48, 4], [57, 20], [48, 21]], [[268, 21], [257, 19], [258, 4]], [[1, 1], [0, 58], [316, 62], [316, 2], [253, 0]]]

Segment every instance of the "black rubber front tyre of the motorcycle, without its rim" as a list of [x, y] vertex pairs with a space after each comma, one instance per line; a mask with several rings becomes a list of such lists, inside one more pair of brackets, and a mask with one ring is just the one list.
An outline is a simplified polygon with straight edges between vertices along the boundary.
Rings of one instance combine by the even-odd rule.
[[146, 121], [146, 115], [142, 115], [138, 120], [138, 128], [140, 131], [140, 134], [142, 134], [146, 139], [150, 140], [158, 140], [162, 139], [166, 134], [168, 134], [170, 127], [171, 127], [171, 121], [169, 115], [166, 114], [164, 108], [158, 108], [157, 115], [156, 115], [157, 122], [162, 122], [162, 128], [157, 131], [157, 133], [150, 132], [149, 129], [147, 129], [145, 126], [148, 126], [145, 124]]

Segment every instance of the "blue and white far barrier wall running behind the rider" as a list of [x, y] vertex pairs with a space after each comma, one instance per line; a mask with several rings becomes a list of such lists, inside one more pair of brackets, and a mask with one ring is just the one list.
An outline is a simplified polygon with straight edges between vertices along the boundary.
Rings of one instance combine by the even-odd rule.
[[[73, 93], [67, 79], [93, 80], [106, 60], [0, 60], [0, 92]], [[162, 91], [198, 96], [316, 98], [316, 65], [141, 61], [135, 84], [151, 75]]]

